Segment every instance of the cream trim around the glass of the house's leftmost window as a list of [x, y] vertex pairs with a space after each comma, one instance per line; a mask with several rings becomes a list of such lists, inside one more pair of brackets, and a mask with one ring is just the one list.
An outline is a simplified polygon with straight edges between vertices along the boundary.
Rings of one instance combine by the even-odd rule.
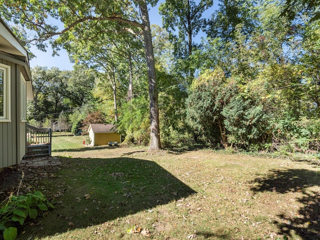
[[3, 70], [3, 116], [0, 116], [0, 122], [11, 121], [11, 67], [0, 63], [0, 69]]

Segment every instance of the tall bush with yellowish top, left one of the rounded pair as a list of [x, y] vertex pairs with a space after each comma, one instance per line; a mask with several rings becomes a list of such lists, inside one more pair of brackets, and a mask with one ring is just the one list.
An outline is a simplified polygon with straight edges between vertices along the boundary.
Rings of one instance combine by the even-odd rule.
[[226, 146], [225, 127], [221, 114], [223, 107], [234, 95], [236, 86], [217, 68], [206, 71], [193, 80], [186, 99], [186, 121], [196, 134], [203, 135], [210, 144], [223, 142]]

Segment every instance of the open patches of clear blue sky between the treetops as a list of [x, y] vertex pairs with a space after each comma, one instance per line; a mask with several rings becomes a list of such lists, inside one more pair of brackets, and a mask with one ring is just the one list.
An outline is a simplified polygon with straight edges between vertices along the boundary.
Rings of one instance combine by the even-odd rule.
[[[159, 1], [161, 2], [161, 0]], [[157, 24], [162, 26], [162, 19], [158, 12], [158, 5], [155, 7], [150, 8], [149, 10], [149, 18], [151, 24]], [[204, 13], [205, 17], [209, 17], [212, 14], [212, 9], [207, 10]], [[51, 47], [48, 46], [46, 52], [37, 50], [35, 47], [31, 47], [31, 52], [36, 55], [36, 57], [30, 60], [30, 66], [34, 67], [38, 66], [46, 66], [48, 68], [55, 66], [58, 67], [60, 70], [72, 70], [73, 63], [69, 61], [68, 54], [64, 49], [61, 49], [58, 54], [59, 56], [52, 56]]]

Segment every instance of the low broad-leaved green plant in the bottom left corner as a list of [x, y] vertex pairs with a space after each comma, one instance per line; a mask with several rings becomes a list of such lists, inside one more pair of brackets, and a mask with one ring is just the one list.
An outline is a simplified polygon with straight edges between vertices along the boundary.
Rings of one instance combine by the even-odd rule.
[[[22, 178], [23, 175], [22, 172]], [[14, 222], [23, 225], [28, 216], [34, 219], [38, 215], [38, 210], [45, 211], [48, 207], [54, 208], [51, 203], [46, 201], [40, 191], [27, 193], [26, 195], [19, 195], [19, 191], [16, 195], [11, 194], [0, 203], [0, 230], [3, 231], [4, 240], [14, 240], [16, 238], [17, 228], [11, 226]]]

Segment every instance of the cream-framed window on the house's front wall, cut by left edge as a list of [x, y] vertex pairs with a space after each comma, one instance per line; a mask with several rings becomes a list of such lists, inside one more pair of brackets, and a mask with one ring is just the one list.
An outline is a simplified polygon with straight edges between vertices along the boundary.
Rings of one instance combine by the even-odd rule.
[[10, 66], [0, 63], [0, 121], [10, 121]]

